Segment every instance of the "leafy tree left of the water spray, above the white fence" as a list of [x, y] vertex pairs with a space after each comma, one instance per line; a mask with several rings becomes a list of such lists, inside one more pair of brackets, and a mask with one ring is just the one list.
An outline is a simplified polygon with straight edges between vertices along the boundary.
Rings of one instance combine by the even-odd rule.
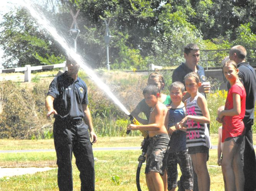
[[47, 58], [46, 55], [52, 58], [47, 64], [63, 62], [58, 45], [44, 30], [36, 26], [25, 9], [20, 8], [16, 12], [5, 14], [0, 28], [0, 44], [5, 58], [2, 65], [5, 68], [26, 64], [41, 65], [40, 58]]

